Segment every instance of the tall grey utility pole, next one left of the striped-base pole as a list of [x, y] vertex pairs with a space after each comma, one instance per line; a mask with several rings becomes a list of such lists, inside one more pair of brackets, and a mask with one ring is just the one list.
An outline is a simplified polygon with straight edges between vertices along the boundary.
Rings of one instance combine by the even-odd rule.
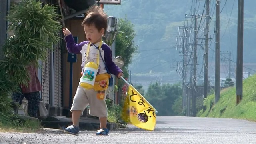
[[216, 0], [215, 22], [215, 104], [220, 100], [220, 0]]

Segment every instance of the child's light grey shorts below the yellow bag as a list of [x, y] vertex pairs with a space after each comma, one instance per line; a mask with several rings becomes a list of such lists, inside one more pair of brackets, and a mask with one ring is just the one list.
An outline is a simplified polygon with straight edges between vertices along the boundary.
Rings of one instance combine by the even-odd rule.
[[89, 114], [99, 118], [108, 117], [108, 108], [106, 104], [106, 94], [108, 89], [104, 91], [86, 90], [81, 86], [77, 87], [76, 94], [73, 99], [71, 112], [73, 110], [81, 110], [82, 113], [87, 106], [90, 105]]

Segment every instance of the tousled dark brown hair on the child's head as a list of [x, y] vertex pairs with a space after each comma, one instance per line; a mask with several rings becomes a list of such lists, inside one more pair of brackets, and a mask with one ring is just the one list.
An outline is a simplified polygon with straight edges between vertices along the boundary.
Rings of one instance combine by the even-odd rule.
[[104, 10], [99, 6], [92, 6], [86, 12], [86, 17], [82, 22], [82, 26], [91, 26], [92, 24], [94, 24], [98, 31], [100, 31], [102, 28], [104, 28], [104, 30], [106, 31], [107, 23], [107, 15], [104, 13]]

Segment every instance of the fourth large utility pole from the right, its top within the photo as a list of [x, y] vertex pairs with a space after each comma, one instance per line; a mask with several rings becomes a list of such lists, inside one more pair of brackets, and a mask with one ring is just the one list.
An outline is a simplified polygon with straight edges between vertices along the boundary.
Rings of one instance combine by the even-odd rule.
[[197, 16], [194, 15], [194, 56], [193, 56], [193, 76], [192, 76], [192, 116], [196, 116], [196, 65], [197, 65]]

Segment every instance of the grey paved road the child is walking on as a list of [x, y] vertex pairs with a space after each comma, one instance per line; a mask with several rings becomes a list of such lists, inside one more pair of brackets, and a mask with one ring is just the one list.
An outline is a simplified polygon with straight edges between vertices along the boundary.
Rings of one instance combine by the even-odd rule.
[[256, 122], [224, 118], [158, 116], [156, 130], [134, 126], [117, 132], [128, 134], [79, 136], [44, 130], [38, 134], [0, 133], [0, 144], [256, 144]]

